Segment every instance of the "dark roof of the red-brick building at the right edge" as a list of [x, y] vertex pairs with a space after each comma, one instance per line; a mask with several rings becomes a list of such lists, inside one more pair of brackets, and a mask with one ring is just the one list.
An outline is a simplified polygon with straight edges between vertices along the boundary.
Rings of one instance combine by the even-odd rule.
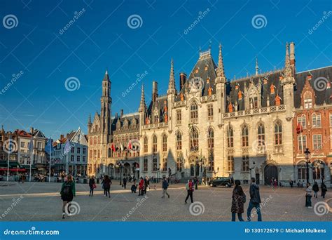
[[[331, 104], [332, 103], [331, 99], [332, 66], [328, 66], [328, 67], [321, 67], [319, 69], [312, 69], [312, 70], [307, 70], [305, 72], [296, 73], [296, 91], [294, 91], [294, 107], [298, 108], [301, 105], [301, 93], [305, 86], [305, 79], [308, 74], [312, 74], [312, 79], [309, 82], [310, 86], [314, 90], [314, 95], [316, 95], [315, 97], [316, 105], [323, 105], [324, 102], [326, 104]], [[326, 82], [326, 80], [329, 83]], [[330, 87], [328, 87], [328, 85], [330, 85]]]

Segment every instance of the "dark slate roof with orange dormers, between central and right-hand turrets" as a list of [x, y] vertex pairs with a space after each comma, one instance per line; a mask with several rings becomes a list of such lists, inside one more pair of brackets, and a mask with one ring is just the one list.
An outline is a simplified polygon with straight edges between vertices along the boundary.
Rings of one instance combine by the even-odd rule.
[[[228, 81], [226, 86], [227, 101], [226, 107], [228, 112], [228, 105], [231, 103], [235, 105], [237, 102], [237, 110], [244, 110], [244, 102], [246, 95], [249, 94], [251, 89], [260, 91], [261, 87], [261, 105], [262, 107], [268, 107], [268, 99], [270, 106], [275, 105], [275, 97], [279, 95], [281, 98], [280, 104], [283, 104], [284, 93], [282, 91], [282, 82], [279, 80], [279, 76], [282, 75], [282, 70], [274, 72], [265, 72], [263, 74], [247, 76], [242, 79], [235, 79]], [[271, 86], [274, 87], [274, 93], [271, 93]], [[239, 99], [239, 92], [242, 92], [242, 99]], [[240, 93], [241, 94], [241, 93]]]

